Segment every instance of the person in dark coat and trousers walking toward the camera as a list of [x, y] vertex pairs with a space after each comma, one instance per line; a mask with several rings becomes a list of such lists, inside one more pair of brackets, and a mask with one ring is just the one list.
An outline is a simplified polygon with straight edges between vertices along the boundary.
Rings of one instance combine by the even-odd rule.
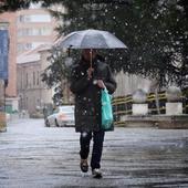
[[[116, 90], [116, 82], [109, 66], [94, 49], [84, 49], [81, 60], [71, 72], [70, 90], [75, 95], [75, 130], [80, 136], [80, 167], [88, 171], [90, 143], [93, 138], [91, 168], [94, 178], [102, 178], [101, 158], [105, 132], [101, 128], [101, 91], [109, 94]], [[113, 128], [112, 128], [113, 130]]]

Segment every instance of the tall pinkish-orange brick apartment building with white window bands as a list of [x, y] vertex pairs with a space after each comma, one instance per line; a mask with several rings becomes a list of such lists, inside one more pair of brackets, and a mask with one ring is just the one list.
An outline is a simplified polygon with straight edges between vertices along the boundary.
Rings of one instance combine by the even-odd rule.
[[38, 48], [41, 44], [51, 44], [56, 39], [54, 28], [56, 21], [48, 10], [40, 6], [17, 12], [4, 12], [0, 20], [9, 22], [9, 80], [6, 88], [7, 112], [19, 111], [17, 93], [17, 55]]

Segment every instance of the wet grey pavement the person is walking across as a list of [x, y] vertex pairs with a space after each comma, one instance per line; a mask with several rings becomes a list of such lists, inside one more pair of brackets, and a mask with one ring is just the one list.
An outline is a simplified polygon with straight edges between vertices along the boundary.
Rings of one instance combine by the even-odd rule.
[[106, 133], [103, 179], [83, 176], [74, 128], [17, 119], [0, 133], [0, 188], [188, 188], [188, 129]]

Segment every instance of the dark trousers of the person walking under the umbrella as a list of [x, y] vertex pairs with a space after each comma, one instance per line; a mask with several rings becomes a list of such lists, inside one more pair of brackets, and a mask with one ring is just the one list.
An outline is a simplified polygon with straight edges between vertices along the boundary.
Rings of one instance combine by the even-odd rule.
[[[100, 163], [101, 163], [101, 157], [102, 157], [102, 152], [103, 152], [104, 135], [105, 135], [104, 130], [93, 132], [93, 150], [92, 150], [92, 158], [91, 158], [92, 169], [101, 168]], [[82, 159], [86, 159], [88, 157], [91, 139], [92, 139], [92, 132], [81, 133], [80, 155]]]

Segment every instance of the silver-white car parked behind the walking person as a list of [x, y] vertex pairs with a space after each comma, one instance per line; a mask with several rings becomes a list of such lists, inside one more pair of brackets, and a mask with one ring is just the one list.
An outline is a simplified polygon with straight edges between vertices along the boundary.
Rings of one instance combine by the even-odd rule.
[[59, 106], [45, 118], [45, 126], [74, 126], [74, 106]]

